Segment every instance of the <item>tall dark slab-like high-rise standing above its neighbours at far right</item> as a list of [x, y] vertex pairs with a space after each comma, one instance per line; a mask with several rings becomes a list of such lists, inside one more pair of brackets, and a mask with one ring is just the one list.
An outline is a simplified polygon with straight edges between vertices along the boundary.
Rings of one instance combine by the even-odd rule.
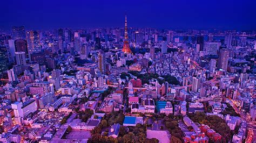
[[230, 52], [226, 48], [220, 49], [219, 61], [218, 61], [218, 68], [219, 69], [223, 69], [224, 71], [227, 71], [229, 53]]

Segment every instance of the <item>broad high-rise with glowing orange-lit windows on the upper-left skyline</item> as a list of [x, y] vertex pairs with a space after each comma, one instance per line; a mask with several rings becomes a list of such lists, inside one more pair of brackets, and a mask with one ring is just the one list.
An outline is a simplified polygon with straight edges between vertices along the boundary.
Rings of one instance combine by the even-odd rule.
[[28, 53], [41, 52], [41, 42], [38, 31], [26, 32], [26, 41], [28, 42]]

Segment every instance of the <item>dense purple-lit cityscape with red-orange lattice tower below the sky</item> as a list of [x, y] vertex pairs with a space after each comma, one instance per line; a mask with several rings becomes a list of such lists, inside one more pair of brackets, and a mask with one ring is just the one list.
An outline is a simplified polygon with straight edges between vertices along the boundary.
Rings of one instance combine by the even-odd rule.
[[0, 31], [0, 142], [256, 142], [256, 31]]

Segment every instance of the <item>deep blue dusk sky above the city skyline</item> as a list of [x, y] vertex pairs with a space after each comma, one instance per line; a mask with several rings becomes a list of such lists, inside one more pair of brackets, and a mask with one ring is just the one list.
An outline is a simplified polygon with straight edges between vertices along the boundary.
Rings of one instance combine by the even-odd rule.
[[256, 30], [255, 0], [3, 0], [0, 5], [4, 30], [121, 27], [125, 12], [129, 27]]

